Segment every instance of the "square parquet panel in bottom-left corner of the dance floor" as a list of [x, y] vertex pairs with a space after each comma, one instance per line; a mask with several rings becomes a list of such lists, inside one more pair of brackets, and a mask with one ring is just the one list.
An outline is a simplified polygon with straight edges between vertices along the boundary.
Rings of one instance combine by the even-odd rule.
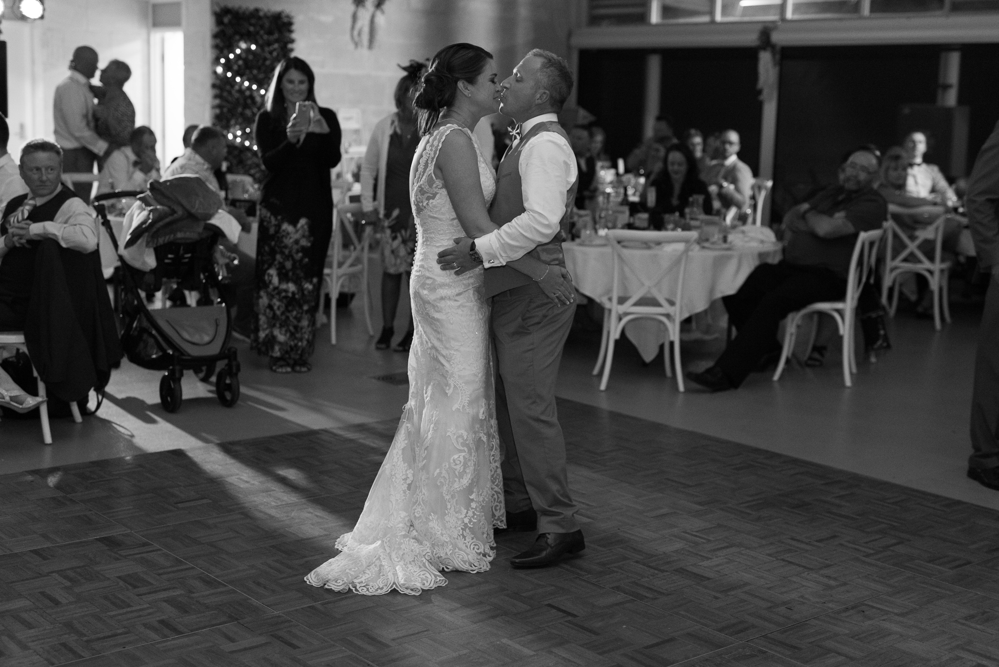
[[62, 664], [271, 611], [134, 534], [0, 556], [0, 600], [0, 664]]

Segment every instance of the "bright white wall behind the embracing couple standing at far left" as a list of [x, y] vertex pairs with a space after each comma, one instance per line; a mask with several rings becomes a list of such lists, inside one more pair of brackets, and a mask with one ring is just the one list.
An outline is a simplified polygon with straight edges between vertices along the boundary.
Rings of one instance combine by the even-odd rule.
[[45, 4], [40, 21], [4, 21], [11, 152], [17, 156], [31, 139], [53, 138], [55, 87], [68, 75], [73, 49], [84, 44], [97, 50], [100, 67], [115, 58], [129, 64], [125, 92], [136, 123], [148, 123], [148, 25], [148, 0], [57, 0]]

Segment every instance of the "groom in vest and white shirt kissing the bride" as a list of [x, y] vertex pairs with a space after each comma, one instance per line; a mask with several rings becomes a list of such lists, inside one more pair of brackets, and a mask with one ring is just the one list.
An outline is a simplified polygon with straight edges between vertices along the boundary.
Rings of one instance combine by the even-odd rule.
[[568, 491], [554, 393], [575, 308], [554, 303], [530, 278], [504, 265], [530, 254], [560, 274], [566, 293], [574, 294], [560, 229], [575, 199], [577, 169], [556, 115], [572, 90], [572, 73], [555, 54], [534, 49], [500, 85], [500, 113], [517, 123], [490, 208], [500, 229], [475, 241], [458, 239], [439, 254], [438, 263], [486, 267], [498, 362], [506, 526], [538, 531], [533, 546], [510, 564], [543, 567], [585, 547]]

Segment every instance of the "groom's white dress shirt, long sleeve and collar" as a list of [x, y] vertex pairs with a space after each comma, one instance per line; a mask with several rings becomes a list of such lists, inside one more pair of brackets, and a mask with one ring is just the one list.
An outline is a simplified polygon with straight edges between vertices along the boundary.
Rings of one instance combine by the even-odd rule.
[[[558, 122], [558, 116], [534, 116], [521, 125], [520, 136], [544, 121]], [[519, 259], [554, 238], [565, 215], [565, 195], [578, 174], [572, 147], [556, 132], [541, 132], [532, 138], [520, 151], [517, 167], [524, 211], [500, 229], [476, 239], [476, 250], [487, 267]]]

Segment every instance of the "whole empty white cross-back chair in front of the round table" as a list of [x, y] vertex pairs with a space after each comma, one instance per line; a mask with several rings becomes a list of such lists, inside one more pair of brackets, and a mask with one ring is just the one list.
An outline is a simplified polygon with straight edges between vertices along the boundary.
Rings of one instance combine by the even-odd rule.
[[[676, 387], [683, 391], [683, 370], [680, 366], [680, 304], [683, 297], [683, 277], [686, 274], [687, 253], [697, 241], [697, 232], [644, 232], [626, 229], [608, 229], [607, 239], [613, 257], [613, 283], [610, 295], [599, 299], [603, 306], [603, 334], [600, 337], [600, 353], [593, 366], [593, 375], [603, 367], [600, 391], [607, 388], [610, 378], [610, 365], [614, 360], [614, 342], [631, 320], [648, 318], [661, 322], [666, 328], [665, 347], [666, 377], [670, 377], [669, 343], [673, 344], [673, 366], [676, 371]], [[628, 261], [620, 242], [638, 241], [658, 246], [662, 264], [657, 274], [642, 275]], [[676, 289], [669, 296], [662, 293], [660, 283], [671, 273], [678, 272]], [[633, 290], [630, 296], [622, 296], [625, 276], [630, 274], [641, 287]]]

